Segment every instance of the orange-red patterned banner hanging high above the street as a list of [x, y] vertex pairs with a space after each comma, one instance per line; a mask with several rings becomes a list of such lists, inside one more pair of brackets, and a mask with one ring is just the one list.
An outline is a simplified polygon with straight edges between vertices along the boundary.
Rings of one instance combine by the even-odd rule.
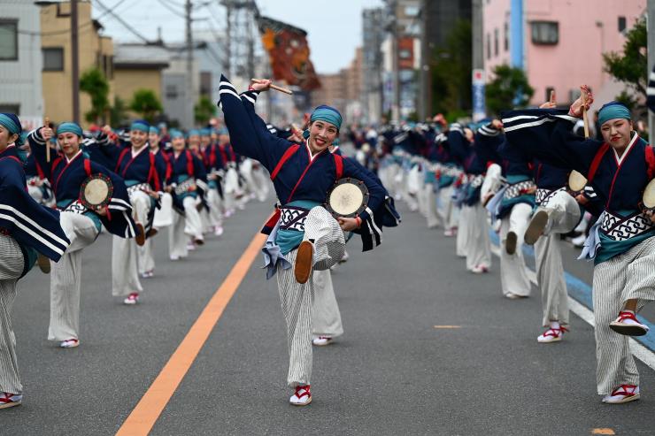
[[319, 77], [309, 59], [307, 32], [267, 17], [258, 18], [258, 27], [274, 80], [284, 80], [304, 91], [320, 88]]

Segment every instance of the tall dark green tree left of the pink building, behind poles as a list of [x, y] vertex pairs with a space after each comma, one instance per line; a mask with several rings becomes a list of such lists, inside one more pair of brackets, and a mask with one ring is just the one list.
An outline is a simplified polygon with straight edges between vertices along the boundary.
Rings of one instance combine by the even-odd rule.
[[445, 46], [432, 53], [432, 113], [448, 117], [450, 112], [471, 109], [472, 43], [471, 21], [460, 19]]

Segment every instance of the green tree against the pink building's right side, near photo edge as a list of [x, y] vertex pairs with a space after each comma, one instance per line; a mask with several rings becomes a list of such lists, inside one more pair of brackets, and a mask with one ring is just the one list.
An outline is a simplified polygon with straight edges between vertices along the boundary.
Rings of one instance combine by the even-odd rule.
[[645, 101], [646, 88], [648, 88], [648, 31], [646, 19], [638, 19], [635, 27], [632, 27], [626, 34], [626, 42], [623, 44], [623, 53], [611, 51], [603, 54], [605, 73], [609, 73], [614, 79], [626, 84], [628, 89], [636, 94], [635, 98], [629, 98], [628, 93], [623, 91], [617, 99], [622, 103], [628, 103], [634, 107], [636, 101]]

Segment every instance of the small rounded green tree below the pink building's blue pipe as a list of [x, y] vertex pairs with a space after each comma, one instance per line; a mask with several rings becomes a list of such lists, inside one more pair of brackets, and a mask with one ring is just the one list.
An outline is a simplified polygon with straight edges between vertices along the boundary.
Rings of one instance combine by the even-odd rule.
[[520, 68], [497, 65], [493, 69], [494, 78], [485, 89], [487, 109], [496, 115], [515, 107], [525, 107], [535, 94], [528, 83], [526, 73]]

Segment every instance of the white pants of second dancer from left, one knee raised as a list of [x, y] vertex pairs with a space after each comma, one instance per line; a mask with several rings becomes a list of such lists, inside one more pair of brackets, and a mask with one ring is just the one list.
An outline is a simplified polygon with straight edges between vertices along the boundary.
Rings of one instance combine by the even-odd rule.
[[89, 217], [61, 212], [59, 224], [71, 245], [59, 262], [50, 262], [50, 326], [48, 340], [78, 339], [82, 249], [96, 241], [96, 224]]

